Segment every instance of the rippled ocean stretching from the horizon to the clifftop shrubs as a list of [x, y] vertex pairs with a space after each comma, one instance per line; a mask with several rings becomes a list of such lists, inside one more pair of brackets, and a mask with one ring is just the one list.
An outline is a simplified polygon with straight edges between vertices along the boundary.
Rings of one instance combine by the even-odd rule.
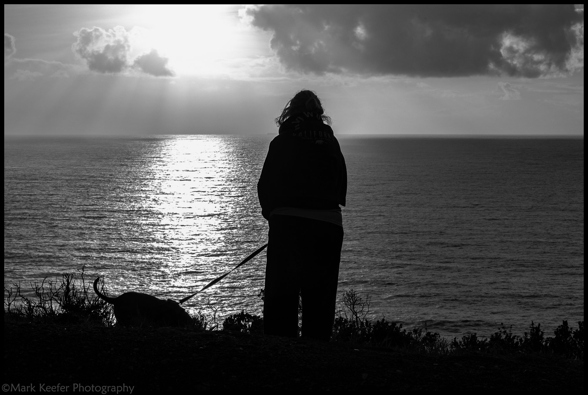
[[[5, 289], [85, 266], [111, 296], [196, 292], [266, 243], [272, 138], [5, 137]], [[583, 138], [338, 138], [339, 296], [369, 293], [369, 319], [445, 337], [584, 320]], [[259, 314], [264, 271], [265, 252], [185, 306]]]

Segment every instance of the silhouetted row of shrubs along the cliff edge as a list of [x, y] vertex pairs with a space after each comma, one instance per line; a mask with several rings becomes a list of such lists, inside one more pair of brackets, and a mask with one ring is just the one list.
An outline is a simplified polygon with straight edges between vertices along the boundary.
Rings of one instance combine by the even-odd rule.
[[[7, 296], [4, 300], [5, 319], [28, 320], [41, 323], [68, 323], [68, 324], [92, 324], [99, 326], [112, 326], [115, 317], [112, 306], [99, 299], [90, 291], [91, 283], [86, 284], [84, 269], [78, 269], [78, 285], [73, 274], [63, 273], [61, 283], [43, 279], [41, 284], [31, 284], [34, 298], [29, 298], [21, 293], [21, 284], [13, 283], [10, 289], [4, 288]], [[102, 293], [105, 290], [103, 280], [99, 281]], [[260, 290], [257, 295], [264, 299], [265, 292]], [[333, 322], [333, 342], [351, 342], [366, 346], [392, 347], [406, 351], [426, 354], [455, 354], [455, 353], [549, 353], [570, 359], [584, 359], [584, 322], [578, 322], [578, 329], [573, 330], [563, 321], [554, 330], [555, 337], [545, 337], [541, 325], [535, 326], [531, 322], [529, 332], [523, 337], [512, 334], [512, 326], [507, 330], [503, 323], [498, 331], [490, 336], [490, 339], [478, 339], [477, 334], [462, 336], [461, 340], [454, 337], [451, 342], [441, 337], [439, 333], [431, 333], [420, 327], [413, 328], [410, 332], [402, 328], [402, 324], [387, 322], [385, 317], [375, 323], [366, 319], [369, 313], [370, 295], [365, 297], [351, 289], [340, 300], [340, 308], [335, 313]], [[213, 306], [208, 301], [208, 308], [212, 316], [206, 316], [202, 312], [191, 314], [193, 324], [191, 329], [218, 330], [217, 313], [219, 307]], [[299, 297], [299, 334], [300, 320], [302, 318], [302, 300]], [[238, 314], [232, 314], [223, 321], [223, 330], [232, 330], [244, 333], [263, 333], [263, 318], [241, 310]]]

